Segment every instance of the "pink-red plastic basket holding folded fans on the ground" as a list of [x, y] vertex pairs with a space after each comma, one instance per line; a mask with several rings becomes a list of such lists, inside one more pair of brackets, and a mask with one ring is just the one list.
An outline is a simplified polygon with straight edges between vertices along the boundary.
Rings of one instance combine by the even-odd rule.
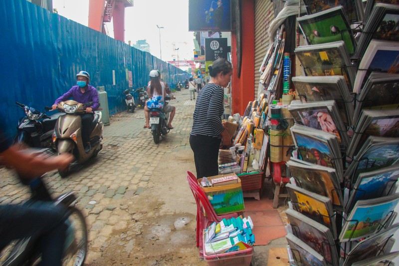
[[242, 251], [217, 255], [206, 255], [203, 253], [203, 260], [207, 262], [209, 266], [249, 266], [252, 261], [252, 256], [253, 248], [251, 247]]

